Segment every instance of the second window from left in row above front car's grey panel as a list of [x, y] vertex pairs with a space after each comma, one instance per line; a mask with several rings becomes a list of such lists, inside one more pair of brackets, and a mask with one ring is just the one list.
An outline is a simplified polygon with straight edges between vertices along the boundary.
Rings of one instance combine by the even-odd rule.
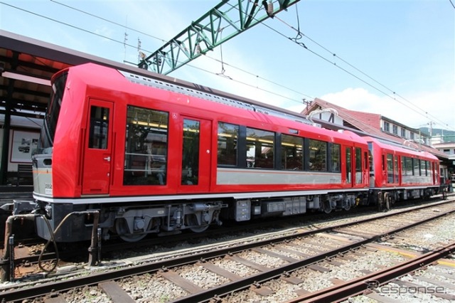
[[274, 168], [274, 132], [247, 127], [247, 167]]

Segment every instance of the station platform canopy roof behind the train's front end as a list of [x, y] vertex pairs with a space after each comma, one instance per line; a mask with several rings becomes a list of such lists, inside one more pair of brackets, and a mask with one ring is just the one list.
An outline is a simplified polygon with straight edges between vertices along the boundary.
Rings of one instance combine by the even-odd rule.
[[[50, 78], [59, 70], [97, 63], [153, 78], [169, 77], [55, 44], [0, 30], [0, 124], [11, 117], [15, 127], [39, 127], [50, 96]], [[16, 121], [16, 123], [14, 122]], [[14, 125], [16, 124], [16, 125]]]

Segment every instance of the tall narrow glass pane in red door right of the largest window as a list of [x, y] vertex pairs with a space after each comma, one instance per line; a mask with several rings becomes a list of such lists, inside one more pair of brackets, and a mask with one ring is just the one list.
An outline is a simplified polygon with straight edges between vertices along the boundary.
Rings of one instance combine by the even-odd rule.
[[200, 122], [183, 119], [182, 185], [198, 185]]

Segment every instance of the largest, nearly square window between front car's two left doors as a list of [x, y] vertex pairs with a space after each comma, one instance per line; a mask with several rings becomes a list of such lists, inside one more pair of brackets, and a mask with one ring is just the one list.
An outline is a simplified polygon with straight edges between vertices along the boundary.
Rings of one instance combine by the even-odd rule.
[[165, 185], [168, 113], [129, 106], [124, 185]]

